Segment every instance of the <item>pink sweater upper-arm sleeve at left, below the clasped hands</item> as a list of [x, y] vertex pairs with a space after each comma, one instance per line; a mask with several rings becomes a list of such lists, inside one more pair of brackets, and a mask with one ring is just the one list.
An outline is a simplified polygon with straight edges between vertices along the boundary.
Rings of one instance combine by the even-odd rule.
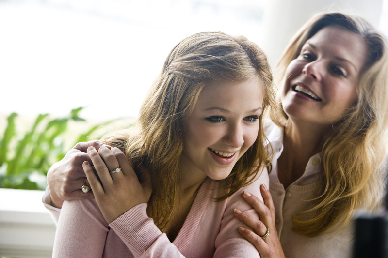
[[52, 257], [102, 257], [108, 231], [108, 224], [94, 199], [65, 201]]

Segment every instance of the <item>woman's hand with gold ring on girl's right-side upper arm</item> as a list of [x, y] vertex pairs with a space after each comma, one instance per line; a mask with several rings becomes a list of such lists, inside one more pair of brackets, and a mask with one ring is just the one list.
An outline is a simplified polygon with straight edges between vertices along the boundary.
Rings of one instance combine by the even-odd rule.
[[[244, 238], [255, 245], [262, 258], [285, 258], [275, 227], [275, 206], [271, 193], [264, 184], [261, 185], [260, 192], [264, 203], [250, 193], [244, 192], [242, 194], [244, 200], [252, 205], [255, 211], [259, 213], [260, 220], [249, 215], [247, 212], [235, 209], [235, 217], [255, 231], [252, 232], [248, 228], [240, 227], [239, 232]], [[263, 240], [261, 237], [267, 232], [267, 227], [270, 230], [270, 234]]]

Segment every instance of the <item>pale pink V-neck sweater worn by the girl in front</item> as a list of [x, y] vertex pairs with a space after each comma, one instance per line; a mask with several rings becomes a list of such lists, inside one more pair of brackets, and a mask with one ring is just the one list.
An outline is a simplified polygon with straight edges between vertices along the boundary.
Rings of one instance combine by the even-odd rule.
[[259, 257], [256, 248], [239, 234], [242, 223], [234, 218], [233, 209], [250, 210], [257, 216], [241, 195], [247, 190], [261, 197], [263, 183], [269, 184], [267, 170], [232, 197], [215, 202], [212, 197], [221, 195], [218, 183], [206, 180], [172, 243], [147, 216], [146, 203], [109, 225], [94, 199], [65, 201], [62, 211], [46, 203], [54, 217], [60, 212], [53, 257]]

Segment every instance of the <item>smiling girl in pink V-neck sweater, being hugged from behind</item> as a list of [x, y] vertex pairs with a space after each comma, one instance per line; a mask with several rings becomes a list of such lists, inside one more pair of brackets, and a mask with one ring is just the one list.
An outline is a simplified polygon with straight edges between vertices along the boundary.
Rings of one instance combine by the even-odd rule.
[[[95, 199], [63, 203], [53, 257], [258, 257], [233, 209], [249, 207], [238, 193], [268, 185], [261, 114], [272, 85], [264, 53], [244, 37], [178, 43], [135, 127], [104, 137], [110, 148], [87, 148], [82, 188]], [[150, 174], [136, 175], [137, 164]]]

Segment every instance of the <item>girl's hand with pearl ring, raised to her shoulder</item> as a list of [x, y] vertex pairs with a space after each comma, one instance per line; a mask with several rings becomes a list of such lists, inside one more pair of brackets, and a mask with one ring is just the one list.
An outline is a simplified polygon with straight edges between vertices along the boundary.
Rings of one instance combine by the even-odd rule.
[[[134, 206], [148, 202], [152, 185], [151, 176], [145, 167], [136, 167], [140, 172], [138, 179], [127, 157], [118, 148], [109, 150], [101, 147], [97, 152], [94, 147], [89, 147], [87, 153], [101, 182], [88, 161], [83, 163], [83, 170], [108, 224]], [[110, 171], [117, 167], [121, 171], [111, 174]]]

